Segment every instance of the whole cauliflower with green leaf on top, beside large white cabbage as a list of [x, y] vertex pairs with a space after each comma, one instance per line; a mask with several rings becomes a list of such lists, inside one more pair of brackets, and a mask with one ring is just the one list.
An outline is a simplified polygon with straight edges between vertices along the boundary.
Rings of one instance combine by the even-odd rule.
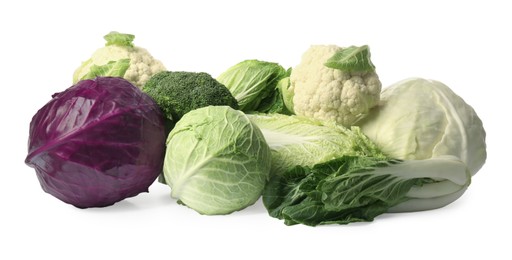
[[343, 126], [364, 118], [382, 86], [369, 56], [368, 46], [311, 46], [290, 75], [295, 114]]

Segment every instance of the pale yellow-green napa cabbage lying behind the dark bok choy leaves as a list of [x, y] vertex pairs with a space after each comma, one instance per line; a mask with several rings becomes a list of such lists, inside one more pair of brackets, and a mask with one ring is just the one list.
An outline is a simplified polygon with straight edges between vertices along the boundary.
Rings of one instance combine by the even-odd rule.
[[272, 174], [297, 166], [313, 166], [345, 155], [385, 158], [359, 128], [322, 124], [305, 117], [281, 114], [247, 115], [272, 150]]

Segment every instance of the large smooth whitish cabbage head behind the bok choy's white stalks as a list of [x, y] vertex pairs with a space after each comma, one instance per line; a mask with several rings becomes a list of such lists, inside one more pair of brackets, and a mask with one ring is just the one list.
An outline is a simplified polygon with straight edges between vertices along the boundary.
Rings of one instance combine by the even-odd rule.
[[485, 130], [475, 110], [439, 81], [411, 78], [381, 93], [359, 123], [390, 157], [423, 160], [456, 156], [474, 175], [485, 163]]

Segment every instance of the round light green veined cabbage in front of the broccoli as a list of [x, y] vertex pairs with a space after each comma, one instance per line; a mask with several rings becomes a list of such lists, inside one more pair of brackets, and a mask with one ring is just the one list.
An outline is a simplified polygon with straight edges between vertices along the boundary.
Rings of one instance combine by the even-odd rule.
[[229, 214], [259, 199], [270, 164], [270, 148], [243, 112], [208, 106], [185, 114], [169, 134], [164, 175], [181, 204]]

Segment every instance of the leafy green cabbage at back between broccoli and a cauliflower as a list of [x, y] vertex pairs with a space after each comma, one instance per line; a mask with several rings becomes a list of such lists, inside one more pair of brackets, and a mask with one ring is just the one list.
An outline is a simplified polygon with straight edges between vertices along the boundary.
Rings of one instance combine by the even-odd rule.
[[278, 100], [274, 96], [277, 83], [286, 76], [289, 73], [277, 63], [245, 60], [220, 74], [217, 80], [233, 94], [240, 110], [267, 112]]

